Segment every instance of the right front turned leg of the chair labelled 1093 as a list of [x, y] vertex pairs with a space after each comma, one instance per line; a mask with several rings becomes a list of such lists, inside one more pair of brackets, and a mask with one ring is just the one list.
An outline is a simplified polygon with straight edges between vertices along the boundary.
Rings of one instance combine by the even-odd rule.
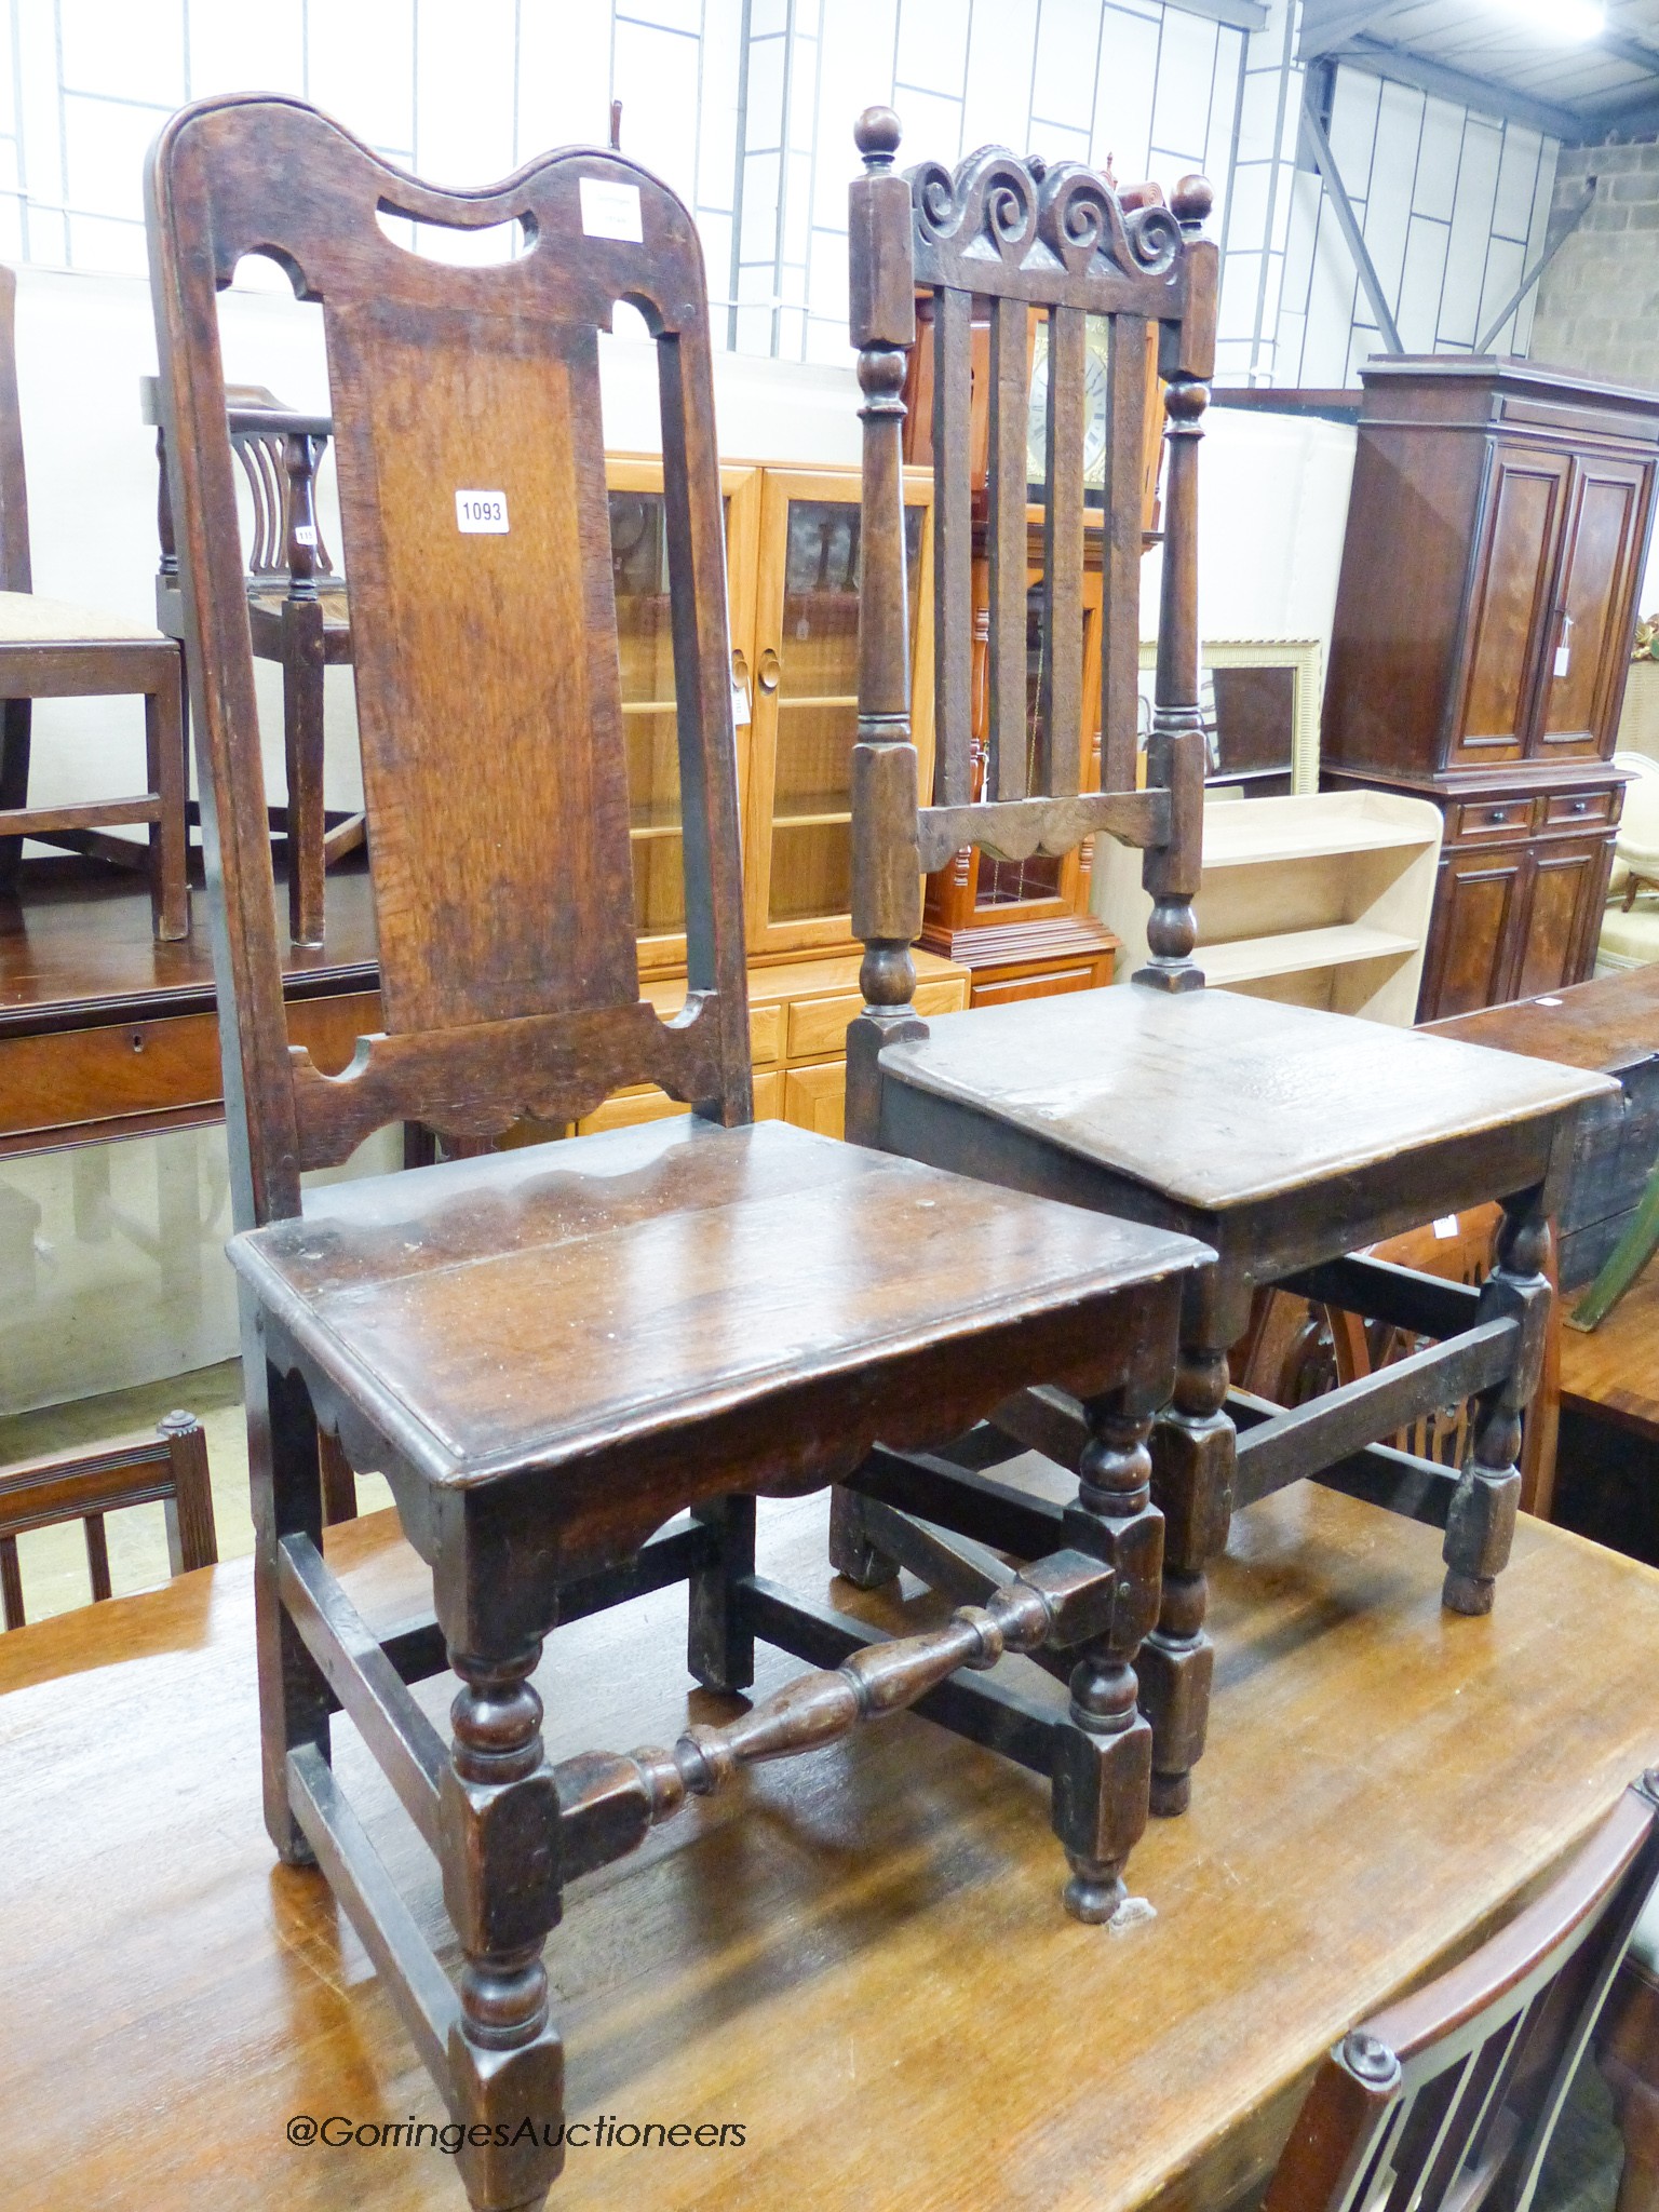
[[1071, 1860], [1066, 1911], [1110, 1920], [1124, 1863], [1146, 1832], [1152, 1732], [1137, 1710], [1135, 1657], [1157, 1617], [1164, 1517], [1152, 1504], [1150, 1416], [1121, 1396], [1084, 1405], [1077, 1504], [1066, 1540], [1115, 1573], [1110, 1626], [1082, 1646], [1068, 1725], [1055, 1741], [1053, 1825]]

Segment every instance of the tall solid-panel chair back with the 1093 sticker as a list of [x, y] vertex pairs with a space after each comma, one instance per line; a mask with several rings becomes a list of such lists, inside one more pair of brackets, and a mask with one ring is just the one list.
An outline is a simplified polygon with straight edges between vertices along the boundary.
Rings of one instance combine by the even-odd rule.
[[[237, 1223], [387, 1121], [484, 1139], [655, 1082], [750, 1119], [726, 553], [701, 248], [615, 153], [445, 192], [268, 95], [184, 111], [150, 166], [161, 416], [217, 876]], [[515, 221], [493, 265], [378, 217]], [[323, 1075], [290, 1048], [215, 290], [265, 252], [319, 301], [338, 420], [385, 1035]], [[657, 341], [679, 701], [686, 1009], [639, 1000], [599, 343]]]

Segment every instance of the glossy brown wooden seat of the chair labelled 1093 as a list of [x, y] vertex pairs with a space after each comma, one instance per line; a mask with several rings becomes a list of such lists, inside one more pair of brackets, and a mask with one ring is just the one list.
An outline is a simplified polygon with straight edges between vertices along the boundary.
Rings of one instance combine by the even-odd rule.
[[332, 1186], [230, 1256], [307, 1376], [427, 1480], [586, 1489], [626, 1484], [666, 1427], [681, 1480], [801, 1464], [902, 1413], [949, 1347], [995, 1360], [1057, 1285], [1088, 1305], [1201, 1248], [785, 1121], [670, 1119]]

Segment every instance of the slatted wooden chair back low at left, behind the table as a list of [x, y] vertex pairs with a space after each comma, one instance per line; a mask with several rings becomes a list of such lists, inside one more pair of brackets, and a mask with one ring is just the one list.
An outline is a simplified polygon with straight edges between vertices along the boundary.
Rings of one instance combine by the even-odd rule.
[[86, 1571], [93, 1601], [111, 1595], [104, 1515], [124, 1506], [164, 1504], [168, 1566], [186, 1575], [212, 1566], [219, 1537], [212, 1526], [208, 1438], [195, 1413], [157, 1422], [159, 1442], [115, 1444], [108, 1451], [53, 1453], [0, 1469], [0, 1610], [7, 1628], [22, 1628], [22, 1571], [18, 1537], [29, 1528], [86, 1522]]

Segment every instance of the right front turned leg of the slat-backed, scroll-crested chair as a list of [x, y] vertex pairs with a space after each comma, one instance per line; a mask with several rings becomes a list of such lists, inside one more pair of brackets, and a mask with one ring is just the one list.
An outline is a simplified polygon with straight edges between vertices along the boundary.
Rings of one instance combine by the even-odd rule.
[[1522, 1413], [1544, 1371], [1544, 1334], [1551, 1314], [1548, 1221], [1537, 1192], [1504, 1201], [1498, 1259], [1480, 1285], [1475, 1321], [1517, 1321], [1515, 1365], [1475, 1400], [1471, 1453], [1447, 1517], [1447, 1582], [1451, 1613], [1491, 1613], [1493, 1584], [1509, 1562], [1520, 1509]]

